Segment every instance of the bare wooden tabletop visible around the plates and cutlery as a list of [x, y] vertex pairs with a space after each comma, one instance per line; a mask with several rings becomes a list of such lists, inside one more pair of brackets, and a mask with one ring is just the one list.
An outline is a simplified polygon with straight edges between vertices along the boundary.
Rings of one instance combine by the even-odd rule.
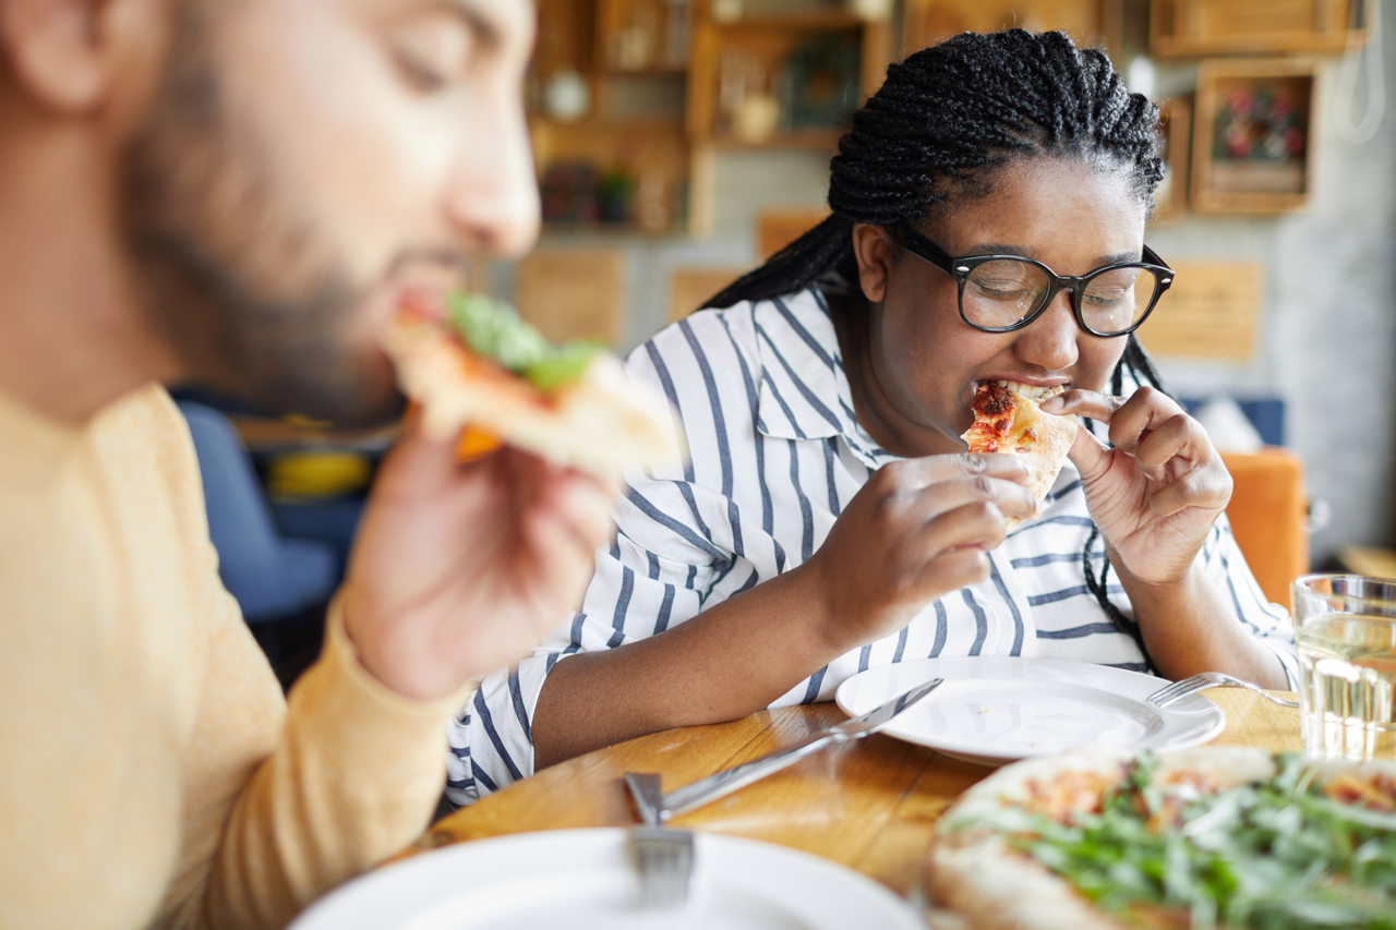
[[[1215, 746], [1300, 748], [1298, 711], [1241, 688], [1213, 688], [1208, 697], [1227, 718]], [[532, 829], [631, 825], [625, 772], [660, 772], [664, 790], [673, 790], [843, 719], [833, 704], [811, 704], [620, 743], [546, 768], [444, 817], [416, 849]], [[920, 888], [935, 818], [993, 771], [875, 735], [817, 753], [673, 822], [803, 849], [906, 895]]]

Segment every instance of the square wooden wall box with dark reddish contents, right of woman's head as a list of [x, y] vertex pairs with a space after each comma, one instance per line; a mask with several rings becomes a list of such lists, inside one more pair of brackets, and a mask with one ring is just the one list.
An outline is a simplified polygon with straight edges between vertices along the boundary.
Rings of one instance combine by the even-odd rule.
[[1308, 201], [1315, 66], [1210, 60], [1198, 70], [1192, 209], [1276, 214]]

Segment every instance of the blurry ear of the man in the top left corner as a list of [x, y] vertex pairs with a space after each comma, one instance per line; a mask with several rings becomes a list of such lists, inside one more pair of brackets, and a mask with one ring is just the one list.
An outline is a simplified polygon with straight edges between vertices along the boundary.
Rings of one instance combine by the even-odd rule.
[[112, 91], [147, 11], [130, 0], [0, 0], [0, 50], [22, 94], [42, 106], [89, 112]]

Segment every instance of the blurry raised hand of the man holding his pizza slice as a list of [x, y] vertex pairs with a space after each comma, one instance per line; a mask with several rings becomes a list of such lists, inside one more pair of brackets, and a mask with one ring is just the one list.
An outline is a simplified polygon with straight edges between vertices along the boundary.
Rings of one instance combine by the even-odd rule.
[[524, 658], [579, 600], [613, 496], [511, 448], [462, 465], [410, 418], [374, 482], [342, 592], [360, 660], [426, 700]]

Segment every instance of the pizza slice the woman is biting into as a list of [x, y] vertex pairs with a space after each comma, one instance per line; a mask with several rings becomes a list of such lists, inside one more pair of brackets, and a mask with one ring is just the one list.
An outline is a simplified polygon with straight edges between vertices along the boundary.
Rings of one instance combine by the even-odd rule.
[[[972, 452], [1022, 455], [1029, 490], [1041, 500], [1057, 482], [1067, 452], [1076, 438], [1076, 416], [1043, 413], [1041, 402], [1062, 392], [1062, 385], [1037, 387], [1018, 381], [984, 381], [974, 392], [974, 422], [960, 438]], [[1022, 521], [1009, 518], [1012, 529]]]

